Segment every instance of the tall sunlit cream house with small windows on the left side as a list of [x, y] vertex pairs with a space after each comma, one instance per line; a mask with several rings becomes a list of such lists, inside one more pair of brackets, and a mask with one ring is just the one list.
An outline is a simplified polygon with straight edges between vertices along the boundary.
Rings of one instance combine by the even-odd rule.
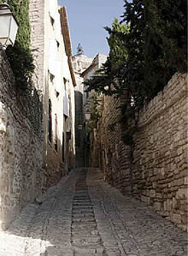
[[74, 166], [76, 82], [66, 9], [57, 1], [37, 2], [30, 1], [32, 53], [44, 101], [44, 170], [50, 186]]

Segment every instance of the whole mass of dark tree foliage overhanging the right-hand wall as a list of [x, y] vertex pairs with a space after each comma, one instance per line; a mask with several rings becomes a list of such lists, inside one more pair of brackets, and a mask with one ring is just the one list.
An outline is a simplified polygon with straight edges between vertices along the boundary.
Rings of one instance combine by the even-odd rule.
[[125, 0], [124, 8], [122, 20], [105, 28], [108, 60], [85, 86], [87, 91], [123, 95], [121, 122], [127, 144], [131, 144], [136, 113], [175, 72], [186, 71], [187, 6], [185, 0]]

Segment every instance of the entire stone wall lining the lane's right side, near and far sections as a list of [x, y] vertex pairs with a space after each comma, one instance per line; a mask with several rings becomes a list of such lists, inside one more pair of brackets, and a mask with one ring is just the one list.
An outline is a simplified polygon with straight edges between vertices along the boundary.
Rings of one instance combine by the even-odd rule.
[[[132, 193], [181, 229], [187, 229], [187, 74], [174, 74], [162, 92], [144, 106], [130, 146], [118, 124], [120, 99], [103, 96], [91, 158], [104, 178]], [[112, 124], [115, 127], [112, 127]]]

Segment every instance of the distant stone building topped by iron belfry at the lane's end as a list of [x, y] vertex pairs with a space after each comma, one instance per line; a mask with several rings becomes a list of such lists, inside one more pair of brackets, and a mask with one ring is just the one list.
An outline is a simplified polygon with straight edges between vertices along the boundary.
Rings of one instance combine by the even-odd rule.
[[89, 93], [85, 92], [84, 80], [89, 79], [95, 74], [102, 63], [105, 63], [107, 56], [97, 54], [96, 57], [86, 57], [81, 45], [78, 46], [78, 52], [72, 57], [73, 69], [76, 77], [75, 86], [75, 106], [76, 106], [76, 166], [85, 166], [86, 155], [86, 136], [85, 136], [85, 110], [89, 98]]

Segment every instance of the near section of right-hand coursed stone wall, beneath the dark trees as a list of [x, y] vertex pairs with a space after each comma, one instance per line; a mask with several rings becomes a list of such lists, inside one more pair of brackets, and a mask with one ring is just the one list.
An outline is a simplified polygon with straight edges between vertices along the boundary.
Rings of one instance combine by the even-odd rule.
[[175, 74], [148, 104], [135, 134], [133, 191], [187, 228], [187, 74]]

